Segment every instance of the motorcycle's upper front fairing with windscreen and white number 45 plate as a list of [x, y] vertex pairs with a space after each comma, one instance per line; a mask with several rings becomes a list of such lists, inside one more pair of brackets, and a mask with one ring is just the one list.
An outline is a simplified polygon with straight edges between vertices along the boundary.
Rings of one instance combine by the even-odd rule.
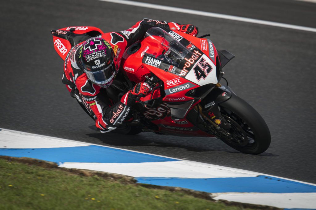
[[169, 72], [199, 86], [218, 83], [215, 59], [217, 52], [209, 39], [199, 39], [180, 32], [166, 32], [153, 27], [147, 31], [144, 40], [160, 50], [155, 57], [145, 55], [143, 63], [154, 67], [158, 67], [157, 63], [160, 64], [161, 61], [167, 63]]

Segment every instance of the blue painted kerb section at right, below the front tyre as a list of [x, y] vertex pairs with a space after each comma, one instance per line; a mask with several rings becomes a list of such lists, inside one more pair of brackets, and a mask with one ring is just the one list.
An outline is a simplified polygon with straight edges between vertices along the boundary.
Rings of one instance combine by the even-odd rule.
[[138, 183], [182, 187], [208, 193], [258, 192], [258, 193], [311, 193], [316, 186], [286, 179], [263, 176], [238, 178], [164, 178], [136, 177]]

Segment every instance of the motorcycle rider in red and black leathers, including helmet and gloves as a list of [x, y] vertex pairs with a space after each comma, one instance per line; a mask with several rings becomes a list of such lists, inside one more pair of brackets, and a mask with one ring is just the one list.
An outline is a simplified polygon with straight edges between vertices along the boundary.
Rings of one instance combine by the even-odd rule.
[[147, 83], [138, 83], [119, 102], [113, 103], [102, 89], [113, 83], [125, 49], [142, 39], [151, 27], [185, 32], [192, 36], [198, 33], [193, 25], [143, 19], [125, 31], [89, 38], [73, 47], [66, 57], [62, 81], [70, 95], [95, 120], [101, 132], [114, 130], [129, 120], [130, 106], [138, 97], [146, 96], [150, 91]]

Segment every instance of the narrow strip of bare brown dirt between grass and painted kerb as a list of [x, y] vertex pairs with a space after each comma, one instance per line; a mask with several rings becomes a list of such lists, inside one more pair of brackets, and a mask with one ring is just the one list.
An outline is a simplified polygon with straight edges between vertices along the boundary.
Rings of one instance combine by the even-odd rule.
[[[55, 162], [49, 162], [45, 160], [39, 160], [39, 159], [27, 158], [27, 157], [19, 158], [19, 157], [10, 157], [10, 156], [0, 156], [0, 158], [4, 160], [8, 160], [8, 161], [16, 161], [19, 163], [24, 163], [27, 165], [36, 165], [36, 166], [40, 166], [42, 168], [47, 168], [47, 169], [62, 170], [64, 172], [76, 174], [79, 176], [86, 176], [86, 177], [98, 176], [100, 178], [110, 179], [112, 181], [116, 181], [122, 184], [134, 184], [134, 185], [143, 186], [143, 187], [151, 188], [151, 189], [169, 190], [171, 192], [182, 192], [182, 193], [185, 193], [187, 195], [191, 195], [197, 198], [202, 198], [205, 200], [218, 202], [217, 200], [212, 198], [213, 195], [211, 193], [195, 191], [195, 190], [190, 190], [190, 189], [185, 189], [185, 188], [180, 188], [180, 187], [167, 187], [167, 186], [158, 186], [158, 185], [152, 185], [152, 184], [141, 184], [141, 183], [137, 183], [137, 180], [134, 179], [134, 177], [125, 176], [122, 174], [93, 171], [93, 170], [88, 170], [88, 169], [63, 168], [63, 167], [59, 167], [58, 164]], [[239, 202], [226, 201], [226, 200], [219, 200], [219, 201], [226, 204], [227, 206], [237, 206], [237, 207], [242, 207], [242, 208], [252, 208], [252, 209], [261, 209], [261, 210], [281, 210], [281, 208], [277, 208], [277, 207], [239, 203]]]

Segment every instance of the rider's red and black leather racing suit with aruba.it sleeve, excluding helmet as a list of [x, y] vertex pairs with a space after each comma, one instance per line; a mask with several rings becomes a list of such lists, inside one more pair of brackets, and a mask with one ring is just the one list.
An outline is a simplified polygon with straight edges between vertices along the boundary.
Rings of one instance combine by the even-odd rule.
[[[197, 32], [195, 27], [192, 30], [192, 27], [188, 26], [191, 25], [187, 25], [182, 29], [180, 24], [174, 22], [143, 19], [125, 31], [104, 33], [101, 35], [101, 38], [106, 40], [112, 46], [115, 57], [114, 64], [118, 71], [125, 49], [142, 39], [149, 28], [160, 27], [164, 30], [171, 29], [174, 31], [189, 28], [189, 34], [194, 30], [194, 32]], [[82, 67], [80, 67], [76, 58], [79, 46], [80, 44], [72, 48], [66, 57], [63, 83], [70, 91], [70, 95], [75, 97], [80, 105], [84, 107], [85, 111], [95, 120], [95, 125], [99, 130], [113, 130], [122, 122], [131, 118], [129, 115], [130, 105], [137, 100], [137, 97], [135, 97], [135, 95], [137, 95], [134, 91], [135, 88], [128, 91], [119, 102], [113, 103], [111, 99], [106, 96], [106, 91], [102, 91], [104, 88], [92, 83], [83, 72]], [[141, 85], [142, 84], [143, 83], [141, 83]], [[143, 90], [142, 94], [147, 94], [150, 87], [141, 85], [139, 88]], [[146, 88], [148, 88], [148, 90], [146, 90]], [[131, 91], [134, 92], [131, 93]]]

